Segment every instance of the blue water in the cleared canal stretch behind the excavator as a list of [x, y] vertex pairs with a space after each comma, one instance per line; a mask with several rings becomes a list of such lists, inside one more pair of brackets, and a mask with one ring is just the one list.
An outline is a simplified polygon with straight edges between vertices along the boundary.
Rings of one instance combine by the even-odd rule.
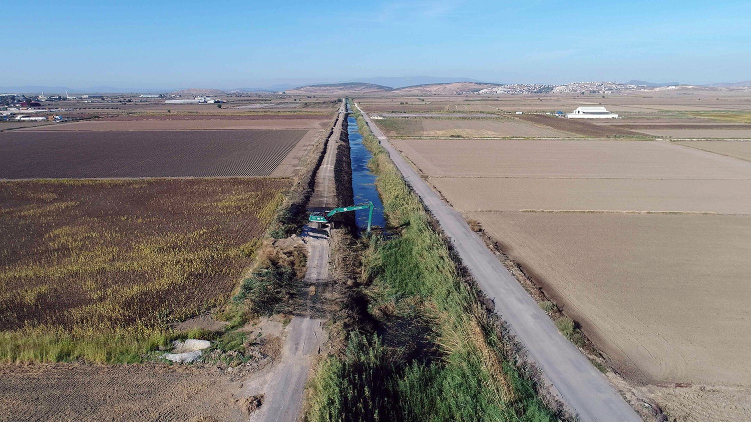
[[[354, 191], [354, 203], [372, 202], [373, 208], [372, 225], [386, 226], [386, 220], [383, 215], [383, 204], [378, 190], [375, 189], [375, 175], [368, 168], [368, 161], [372, 154], [363, 145], [363, 136], [360, 135], [360, 128], [357, 127], [357, 120], [354, 117], [347, 118], [350, 157], [352, 160], [352, 190]], [[355, 211], [357, 227], [360, 230], [367, 229], [368, 210]]]

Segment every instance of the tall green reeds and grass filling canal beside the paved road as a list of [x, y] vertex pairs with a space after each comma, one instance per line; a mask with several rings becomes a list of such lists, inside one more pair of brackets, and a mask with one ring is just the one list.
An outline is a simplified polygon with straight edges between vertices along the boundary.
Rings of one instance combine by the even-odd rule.
[[[426, 319], [437, 352], [409, 361], [377, 336], [352, 333], [312, 381], [309, 421], [554, 421], [508, 361], [478, 297], [462, 279], [420, 200], [354, 113], [390, 226], [363, 257], [369, 309]], [[382, 312], [373, 312], [379, 316]], [[383, 316], [382, 316], [383, 318]]]

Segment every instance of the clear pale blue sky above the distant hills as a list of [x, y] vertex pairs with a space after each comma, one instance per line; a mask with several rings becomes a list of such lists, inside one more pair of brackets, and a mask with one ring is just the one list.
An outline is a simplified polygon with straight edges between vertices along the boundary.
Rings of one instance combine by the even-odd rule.
[[8, 1], [0, 86], [751, 79], [751, 1]]

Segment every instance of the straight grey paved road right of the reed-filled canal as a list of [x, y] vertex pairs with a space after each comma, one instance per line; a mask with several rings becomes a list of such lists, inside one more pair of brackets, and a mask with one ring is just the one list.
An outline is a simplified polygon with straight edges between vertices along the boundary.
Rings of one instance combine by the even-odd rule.
[[487, 249], [477, 233], [469, 229], [463, 216], [430, 189], [365, 112], [363, 117], [381, 145], [388, 150], [391, 160], [394, 160], [407, 183], [439, 221], [478, 285], [495, 300], [496, 313], [508, 323], [517, 340], [526, 348], [529, 358], [535, 361], [552, 384], [551, 391], [578, 414], [582, 422], [641, 421], [631, 406], [608, 384], [605, 376], [590, 364], [579, 349], [559, 334], [553, 321]]

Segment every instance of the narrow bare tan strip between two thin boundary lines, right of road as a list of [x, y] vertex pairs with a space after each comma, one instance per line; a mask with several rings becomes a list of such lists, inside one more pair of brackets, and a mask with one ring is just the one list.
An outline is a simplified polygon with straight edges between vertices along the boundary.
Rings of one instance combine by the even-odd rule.
[[751, 214], [745, 180], [631, 178], [431, 178], [463, 212], [595, 210]]

